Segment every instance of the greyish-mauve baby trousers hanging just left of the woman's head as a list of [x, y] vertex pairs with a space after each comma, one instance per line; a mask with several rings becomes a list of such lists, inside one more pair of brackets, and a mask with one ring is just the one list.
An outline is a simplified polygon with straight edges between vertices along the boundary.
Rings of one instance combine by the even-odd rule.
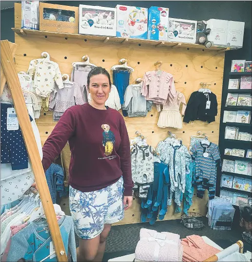
[[87, 78], [89, 72], [95, 68], [92, 65], [74, 65], [71, 73], [71, 81], [79, 84], [84, 103], [88, 102]]

